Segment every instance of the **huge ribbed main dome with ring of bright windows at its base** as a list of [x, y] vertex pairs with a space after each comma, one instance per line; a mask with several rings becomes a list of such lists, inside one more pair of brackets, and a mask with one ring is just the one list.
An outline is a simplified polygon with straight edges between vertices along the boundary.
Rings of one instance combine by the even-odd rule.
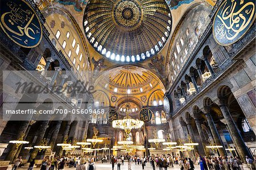
[[136, 63], [156, 55], [171, 31], [165, 0], [91, 0], [84, 13], [90, 44], [106, 59]]

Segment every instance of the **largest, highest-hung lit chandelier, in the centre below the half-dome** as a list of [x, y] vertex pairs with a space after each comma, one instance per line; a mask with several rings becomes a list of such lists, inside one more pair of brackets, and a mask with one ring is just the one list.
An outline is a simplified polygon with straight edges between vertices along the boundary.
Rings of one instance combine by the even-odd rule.
[[130, 134], [131, 130], [141, 128], [144, 125], [143, 121], [131, 118], [129, 116], [130, 111], [130, 104], [127, 104], [125, 110], [126, 116], [123, 119], [118, 119], [112, 122], [112, 127], [125, 130], [127, 135]]

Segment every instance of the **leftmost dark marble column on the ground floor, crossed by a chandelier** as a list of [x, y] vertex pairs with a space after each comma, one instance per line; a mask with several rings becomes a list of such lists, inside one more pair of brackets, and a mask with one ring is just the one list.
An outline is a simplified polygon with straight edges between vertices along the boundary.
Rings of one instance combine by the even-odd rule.
[[[16, 135], [16, 138], [14, 140], [18, 140], [24, 136], [24, 132], [26, 132], [27, 127], [29, 125], [30, 121], [22, 121], [22, 124], [19, 127], [18, 134]], [[24, 140], [24, 137], [23, 137]], [[10, 152], [5, 157], [5, 160], [10, 160], [10, 164], [13, 163], [14, 156], [16, 152], [18, 151], [18, 147], [16, 147], [16, 144], [9, 144]]]

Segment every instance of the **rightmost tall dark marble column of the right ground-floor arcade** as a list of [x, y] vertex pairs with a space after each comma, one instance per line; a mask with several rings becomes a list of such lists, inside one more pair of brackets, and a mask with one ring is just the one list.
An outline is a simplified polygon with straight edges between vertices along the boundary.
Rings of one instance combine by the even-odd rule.
[[246, 163], [245, 156], [249, 156], [252, 158], [250, 151], [245, 145], [245, 142], [243, 141], [243, 138], [238, 131], [237, 125], [234, 122], [232, 115], [229, 113], [229, 109], [226, 106], [226, 99], [220, 99], [220, 109], [223, 114], [223, 117], [226, 120], [226, 124], [229, 129], [229, 133], [232, 136], [232, 139], [234, 140], [234, 144], [236, 145], [236, 148], [238, 150], [238, 154], [240, 155], [241, 159], [244, 163]]

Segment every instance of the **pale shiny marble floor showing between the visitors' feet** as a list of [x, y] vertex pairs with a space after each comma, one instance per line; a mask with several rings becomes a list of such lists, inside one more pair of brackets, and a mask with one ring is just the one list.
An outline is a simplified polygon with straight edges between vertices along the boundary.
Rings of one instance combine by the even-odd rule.
[[[86, 165], [87, 166], [87, 165]], [[200, 169], [198, 165], [195, 165], [195, 169]], [[26, 169], [26, 167], [22, 167], [22, 168], [18, 168], [16, 170], [22, 170], [22, 169]], [[40, 168], [34, 168], [34, 170], [39, 170]], [[76, 168], [68, 168], [65, 167], [64, 170], [75, 170]], [[110, 163], [101, 163], [101, 162], [97, 162], [96, 163], [96, 169], [97, 170], [112, 170], [112, 164]], [[142, 169], [141, 165], [135, 165], [135, 163], [131, 164], [131, 169], [132, 170], [140, 170]], [[158, 170], [159, 167], [156, 167], [156, 170]], [[179, 170], [179, 166], [178, 165], [174, 165], [174, 167], [168, 167], [168, 170]], [[11, 167], [9, 167], [7, 170], [11, 170]], [[117, 165], [115, 164], [114, 170], [117, 170]], [[124, 163], [124, 165], [121, 165], [121, 170], [129, 170], [128, 169], [128, 164], [127, 162]], [[152, 170], [152, 167], [150, 166], [150, 163], [146, 163], [146, 167], [144, 167], [144, 170]]]

